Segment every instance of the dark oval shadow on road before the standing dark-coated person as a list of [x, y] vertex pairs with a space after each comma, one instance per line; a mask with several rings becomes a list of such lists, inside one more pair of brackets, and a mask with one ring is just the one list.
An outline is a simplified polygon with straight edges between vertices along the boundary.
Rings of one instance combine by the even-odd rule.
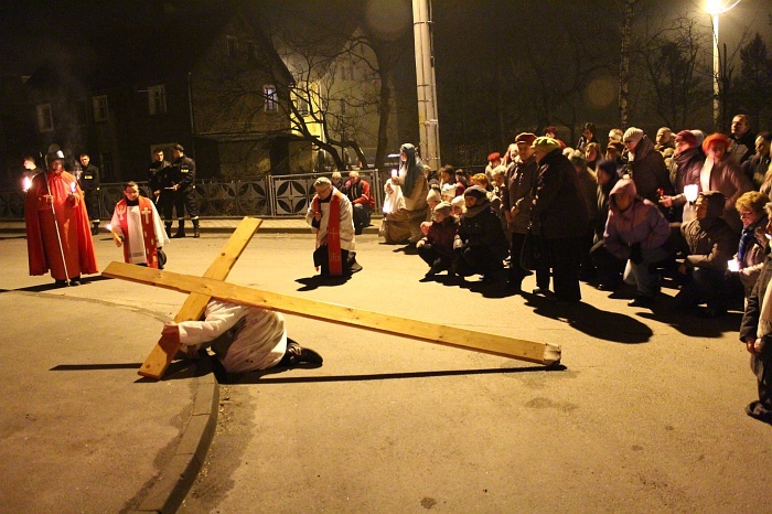
[[626, 314], [602, 311], [589, 303], [567, 303], [537, 295], [523, 293], [525, 304], [534, 308], [534, 313], [566, 320], [571, 328], [596, 339], [613, 343], [646, 343], [654, 334], [645, 323]]

